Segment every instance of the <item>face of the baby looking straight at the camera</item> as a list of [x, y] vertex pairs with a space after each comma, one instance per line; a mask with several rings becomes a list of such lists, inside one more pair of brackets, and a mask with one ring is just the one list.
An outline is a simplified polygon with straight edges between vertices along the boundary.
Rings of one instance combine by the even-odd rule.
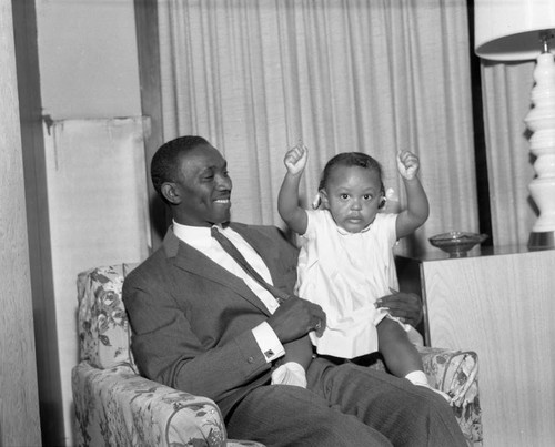
[[375, 170], [335, 166], [322, 193], [322, 203], [335, 223], [359, 233], [375, 219], [382, 196], [382, 179]]

